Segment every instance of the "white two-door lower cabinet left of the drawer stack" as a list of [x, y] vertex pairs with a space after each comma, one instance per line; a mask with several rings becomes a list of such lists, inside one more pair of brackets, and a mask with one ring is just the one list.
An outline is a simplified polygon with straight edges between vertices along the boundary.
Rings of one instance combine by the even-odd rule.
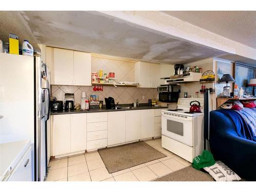
[[53, 116], [53, 156], [86, 150], [87, 114]]

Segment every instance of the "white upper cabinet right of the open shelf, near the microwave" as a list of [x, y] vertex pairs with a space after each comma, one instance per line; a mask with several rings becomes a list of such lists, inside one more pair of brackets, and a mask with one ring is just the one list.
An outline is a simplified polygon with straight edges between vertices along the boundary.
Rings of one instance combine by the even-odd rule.
[[160, 84], [160, 64], [138, 61], [135, 63], [135, 81], [140, 88], [157, 88]]

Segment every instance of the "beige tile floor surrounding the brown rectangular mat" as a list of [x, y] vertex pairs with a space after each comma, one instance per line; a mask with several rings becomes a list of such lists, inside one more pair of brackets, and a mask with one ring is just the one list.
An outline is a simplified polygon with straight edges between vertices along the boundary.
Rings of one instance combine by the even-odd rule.
[[91, 152], [50, 161], [47, 181], [151, 181], [191, 163], [161, 147], [161, 139], [145, 141], [167, 157], [109, 174], [99, 153]]

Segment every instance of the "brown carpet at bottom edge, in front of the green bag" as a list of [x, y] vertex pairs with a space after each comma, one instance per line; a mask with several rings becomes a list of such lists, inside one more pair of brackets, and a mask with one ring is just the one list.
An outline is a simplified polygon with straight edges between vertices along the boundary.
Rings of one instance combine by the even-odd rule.
[[215, 181], [209, 174], [201, 172], [192, 165], [177, 170], [154, 181]]

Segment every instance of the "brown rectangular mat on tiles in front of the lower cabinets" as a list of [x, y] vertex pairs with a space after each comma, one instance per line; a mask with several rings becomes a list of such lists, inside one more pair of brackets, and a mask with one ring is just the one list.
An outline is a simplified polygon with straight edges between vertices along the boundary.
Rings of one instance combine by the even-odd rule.
[[166, 157], [166, 155], [143, 141], [101, 148], [98, 152], [110, 174]]

